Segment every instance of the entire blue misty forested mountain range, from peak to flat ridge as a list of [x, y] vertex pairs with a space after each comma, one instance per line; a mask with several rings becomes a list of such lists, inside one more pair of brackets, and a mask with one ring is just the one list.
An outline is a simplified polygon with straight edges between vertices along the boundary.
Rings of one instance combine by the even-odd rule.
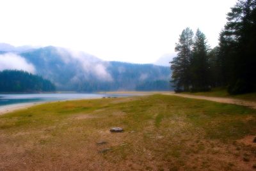
[[170, 89], [169, 67], [102, 61], [84, 52], [52, 46], [16, 55], [33, 65], [35, 74], [51, 80], [59, 91]]

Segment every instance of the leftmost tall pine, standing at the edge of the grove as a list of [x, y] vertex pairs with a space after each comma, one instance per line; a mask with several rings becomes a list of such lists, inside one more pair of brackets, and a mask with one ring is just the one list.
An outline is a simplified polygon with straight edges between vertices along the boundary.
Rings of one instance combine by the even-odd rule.
[[193, 31], [187, 27], [180, 34], [179, 43], [175, 51], [178, 52], [171, 62], [172, 83], [175, 91], [189, 91], [191, 85], [191, 50], [193, 45]]

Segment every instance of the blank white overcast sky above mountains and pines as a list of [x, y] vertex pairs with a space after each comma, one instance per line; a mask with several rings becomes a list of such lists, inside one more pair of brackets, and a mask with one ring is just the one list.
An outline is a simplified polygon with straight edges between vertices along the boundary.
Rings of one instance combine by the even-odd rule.
[[211, 47], [236, 0], [1, 0], [0, 42], [68, 47], [108, 61], [154, 63], [185, 27]]

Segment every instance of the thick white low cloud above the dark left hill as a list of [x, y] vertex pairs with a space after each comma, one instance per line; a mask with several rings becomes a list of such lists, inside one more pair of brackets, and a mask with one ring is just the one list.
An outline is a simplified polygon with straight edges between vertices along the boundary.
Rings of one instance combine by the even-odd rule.
[[23, 70], [35, 73], [35, 67], [21, 56], [13, 53], [0, 55], [0, 71], [3, 70]]

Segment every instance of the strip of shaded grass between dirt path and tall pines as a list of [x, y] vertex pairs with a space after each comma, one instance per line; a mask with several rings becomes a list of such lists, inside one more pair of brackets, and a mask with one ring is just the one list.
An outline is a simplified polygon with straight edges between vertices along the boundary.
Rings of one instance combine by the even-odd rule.
[[241, 100], [256, 101], [256, 93], [247, 93], [247, 94], [238, 94], [230, 95], [227, 92], [227, 89], [215, 88], [207, 92], [198, 92], [198, 93], [182, 93], [182, 94], [192, 94], [198, 96], [212, 96], [212, 97], [221, 97], [221, 98], [237, 98]]

